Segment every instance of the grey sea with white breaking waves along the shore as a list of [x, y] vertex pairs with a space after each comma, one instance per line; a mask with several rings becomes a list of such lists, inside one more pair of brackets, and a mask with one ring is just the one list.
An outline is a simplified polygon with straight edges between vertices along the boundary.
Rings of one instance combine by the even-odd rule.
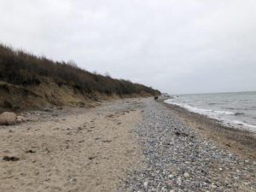
[[256, 132], [256, 91], [181, 95], [165, 102]]

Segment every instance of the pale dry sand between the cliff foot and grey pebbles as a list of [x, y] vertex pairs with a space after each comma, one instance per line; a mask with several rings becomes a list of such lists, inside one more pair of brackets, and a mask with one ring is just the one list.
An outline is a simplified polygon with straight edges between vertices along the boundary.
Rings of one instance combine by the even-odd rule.
[[142, 120], [140, 105], [126, 99], [34, 112], [31, 122], [0, 127], [0, 191], [119, 191], [125, 171], [143, 167], [131, 133]]

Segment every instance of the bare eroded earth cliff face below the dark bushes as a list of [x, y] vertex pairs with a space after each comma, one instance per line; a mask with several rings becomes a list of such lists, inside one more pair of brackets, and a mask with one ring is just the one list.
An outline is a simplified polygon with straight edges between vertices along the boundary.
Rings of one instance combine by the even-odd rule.
[[52, 106], [93, 108], [97, 102], [123, 97], [151, 96], [147, 92], [125, 96], [99, 92], [82, 93], [68, 85], [47, 81], [37, 85], [20, 86], [0, 82], [0, 112], [44, 109]]

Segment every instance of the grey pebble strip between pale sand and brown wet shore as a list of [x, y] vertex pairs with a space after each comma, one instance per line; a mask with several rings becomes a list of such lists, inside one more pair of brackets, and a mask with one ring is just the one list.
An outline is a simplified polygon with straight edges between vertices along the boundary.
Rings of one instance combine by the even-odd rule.
[[129, 172], [122, 191], [256, 191], [255, 161], [198, 136], [161, 103], [143, 105], [136, 134], [147, 166]]

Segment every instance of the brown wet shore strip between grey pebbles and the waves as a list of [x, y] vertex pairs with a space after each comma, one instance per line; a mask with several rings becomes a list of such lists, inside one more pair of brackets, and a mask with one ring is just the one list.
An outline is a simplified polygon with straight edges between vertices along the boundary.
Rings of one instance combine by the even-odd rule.
[[185, 108], [172, 105], [160, 99], [166, 108], [172, 109], [185, 125], [189, 125], [201, 136], [212, 139], [219, 146], [230, 150], [244, 158], [256, 160], [256, 134], [253, 131], [242, 130], [236, 127], [223, 125], [218, 119], [212, 119], [206, 115], [190, 112]]

